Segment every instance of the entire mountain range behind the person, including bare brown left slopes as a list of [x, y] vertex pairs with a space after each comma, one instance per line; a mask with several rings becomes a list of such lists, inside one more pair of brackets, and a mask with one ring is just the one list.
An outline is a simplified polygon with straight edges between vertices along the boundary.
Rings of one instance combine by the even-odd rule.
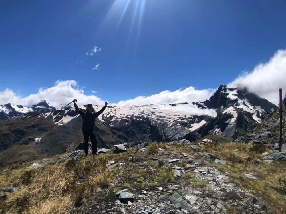
[[[86, 106], [79, 108], [85, 110]], [[101, 108], [94, 106], [96, 111]], [[236, 139], [275, 108], [246, 89], [221, 85], [204, 102], [108, 106], [97, 119], [96, 138], [104, 148], [125, 142], [194, 141], [206, 135]], [[15, 151], [17, 145], [31, 145], [37, 154], [53, 156], [82, 141], [82, 118], [74, 107], [56, 110], [42, 101], [31, 107], [2, 105], [0, 112], [3, 119], [11, 117], [0, 120], [0, 156], [3, 152], [5, 157], [20, 155], [20, 150]], [[16, 147], [9, 150], [13, 145]]]

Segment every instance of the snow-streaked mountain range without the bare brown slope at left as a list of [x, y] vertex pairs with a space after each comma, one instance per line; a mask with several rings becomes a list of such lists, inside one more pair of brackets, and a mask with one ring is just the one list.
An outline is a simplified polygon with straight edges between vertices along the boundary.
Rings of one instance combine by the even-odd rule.
[[[39, 111], [44, 114], [38, 117], [53, 118], [53, 122], [57, 125], [66, 125], [79, 116], [74, 107], [55, 110], [45, 101], [29, 108], [11, 104], [1, 106], [0, 110], [1, 108], [4, 115], [1, 115], [1, 118], [19, 115], [30, 117], [28, 112]], [[85, 106], [79, 108], [85, 110]], [[96, 111], [101, 108], [102, 106], [94, 106]], [[248, 92], [245, 88], [227, 88], [226, 85], [221, 85], [215, 94], [204, 102], [108, 106], [98, 119], [104, 126], [122, 133], [126, 130], [130, 132], [130, 129], [132, 132], [138, 132], [144, 127], [144, 131], [141, 130], [140, 133], [148, 133], [145, 133], [144, 139], [140, 140], [145, 141], [172, 141], [182, 138], [196, 140], [208, 134], [236, 138], [260, 123], [263, 114], [275, 108], [277, 106]], [[152, 131], [160, 133], [156, 135], [158, 139], [152, 137]], [[129, 134], [128, 138], [132, 138]]]

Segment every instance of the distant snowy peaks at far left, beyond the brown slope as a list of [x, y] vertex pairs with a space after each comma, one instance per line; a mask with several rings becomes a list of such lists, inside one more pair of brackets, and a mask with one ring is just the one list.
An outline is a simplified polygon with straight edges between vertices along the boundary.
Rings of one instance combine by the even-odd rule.
[[19, 116], [32, 111], [45, 113], [56, 111], [56, 109], [52, 106], [49, 106], [45, 100], [40, 101], [31, 107], [23, 107], [22, 105], [14, 106], [11, 103], [8, 103], [5, 105], [0, 105], [0, 120]]

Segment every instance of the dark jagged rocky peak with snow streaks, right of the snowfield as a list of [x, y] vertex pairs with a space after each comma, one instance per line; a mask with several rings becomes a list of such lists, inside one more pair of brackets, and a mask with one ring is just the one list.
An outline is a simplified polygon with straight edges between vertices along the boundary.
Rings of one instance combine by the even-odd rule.
[[261, 123], [267, 112], [278, 107], [246, 88], [227, 88], [226, 85], [221, 85], [204, 105], [217, 109], [217, 116], [184, 138], [196, 140], [206, 135], [221, 135], [236, 139]]

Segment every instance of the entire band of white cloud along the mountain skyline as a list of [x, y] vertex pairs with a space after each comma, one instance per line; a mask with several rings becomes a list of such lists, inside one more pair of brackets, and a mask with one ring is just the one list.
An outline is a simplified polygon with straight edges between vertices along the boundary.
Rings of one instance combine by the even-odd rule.
[[[94, 68], [95, 69], [95, 68]], [[219, 82], [224, 84], [223, 82]], [[229, 86], [245, 86], [250, 91], [257, 93], [259, 96], [268, 99], [274, 104], [279, 102], [279, 88], [286, 91], [286, 50], [279, 50], [275, 55], [264, 64], [257, 65], [253, 71], [244, 72]], [[208, 99], [216, 89], [197, 90], [194, 87], [178, 89], [175, 91], [162, 91], [151, 96], [138, 96], [134, 99], [122, 100], [118, 103], [111, 103], [111, 106], [124, 105], [145, 105], [145, 104], [170, 104], [181, 102], [196, 102]], [[77, 85], [75, 80], [58, 80], [55, 85], [50, 88], [40, 88], [35, 94], [27, 97], [21, 97], [13, 90], [7, 88], [0, 92], [0, 104], [11, 103], [14, 105], [31, 106], [40, 100], [47, 100], [51, 105], [56, 107], [59, 104], [66, 105], [74, 98], [78, 99], [78, 104], [97, 104], [104, 105], [104, 101], [94, 95], [96, 91], [92, 91], [91, 95], [84, 94], [83, 88]], [[108, 102], [108, 101], [107, 101]], [[56, 105], [57, 104], [57, 105]]]

